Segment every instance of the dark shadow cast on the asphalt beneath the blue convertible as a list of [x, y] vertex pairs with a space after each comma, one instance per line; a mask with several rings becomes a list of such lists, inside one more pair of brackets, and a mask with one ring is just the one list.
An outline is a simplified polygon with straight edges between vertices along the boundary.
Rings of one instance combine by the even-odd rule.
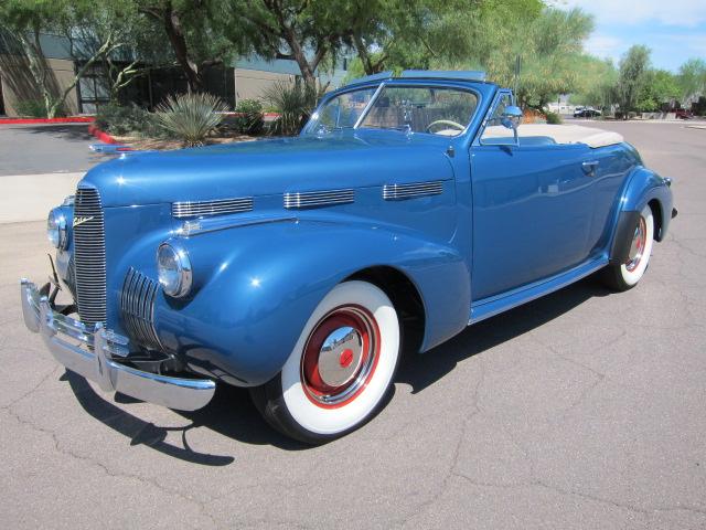
[[[419, 393], [442, 379], [460, 361], [531, 331], [592, 297], [609, 294], [609, 290], [592, 278], [588, 278], [505, 312], [500, 318], [479, 322], [425, 354], [407, 354], [395, 381], [409, 384], [413, 388], [413, 394]], [[227, 466], [234, 462], [232, 456], [193, 451], [186, 434], [196, 427], [210, 428], [245, 444], [269, 444], [285, 451], [301, 451], [309, 447], [269, 427], [250, 402], [245, 389], [220, 385], [214, 399], [204, 409], [194, 412], [176, 411], [191, 421], [190, 425], [161, 427], [115, 406], [103, 395], [97, 394], [81, 375], [66, 371], [62, 379], [68, 381], [76, 400], [88, 414], [130, 438], [130, 445], [146, 445], [181, 460], [205, 466]], [[394, 390], [385, 400], [392, 400]], [[116, 394], [116, 402], [133, 403], [135, 401]], [[165, 438], [170, 432], [181, 432], [183, 447], [167, 442]]]

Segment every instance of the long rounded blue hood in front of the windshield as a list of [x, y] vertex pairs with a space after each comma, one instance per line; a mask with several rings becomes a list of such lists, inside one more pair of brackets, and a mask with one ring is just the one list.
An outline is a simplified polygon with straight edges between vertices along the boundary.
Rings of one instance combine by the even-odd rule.
[[448, 146], [431, 135], [345, 131], [127, 153], [79, 186], [97, 188], [104, 206], [126, 206], [448, 180]]

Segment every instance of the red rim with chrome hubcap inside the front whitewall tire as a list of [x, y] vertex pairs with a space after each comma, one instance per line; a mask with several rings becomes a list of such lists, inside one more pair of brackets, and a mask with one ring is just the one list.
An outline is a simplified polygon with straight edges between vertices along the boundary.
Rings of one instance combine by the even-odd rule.
[[379, 328], [360, 306], [329, 311], [313, 327], [301, 356], [300, 379], [317, 406], [351, 403], [367, 386], [379, 358]]

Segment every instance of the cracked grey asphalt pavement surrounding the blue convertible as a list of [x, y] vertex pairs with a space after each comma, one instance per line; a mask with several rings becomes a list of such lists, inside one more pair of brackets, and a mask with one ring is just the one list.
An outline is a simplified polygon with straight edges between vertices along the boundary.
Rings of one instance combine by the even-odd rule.
[[706, 130], [585, 125], [674, 179], [640, 285], [588, 278], [408, 358], [378, 416], [317, 448], [242, 390], [178, 413], [65, 372], [19, 307], [45, 223], [0, 224], [3, 527], [706, 528]]

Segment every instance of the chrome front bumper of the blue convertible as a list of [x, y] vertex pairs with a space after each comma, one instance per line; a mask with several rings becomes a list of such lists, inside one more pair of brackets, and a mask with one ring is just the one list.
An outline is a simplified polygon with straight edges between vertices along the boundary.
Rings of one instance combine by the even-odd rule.
[[87, 330], [83, 322], [55, 311], [33, 283], [22, 279], [20, 296], [28, 329], [42, 336], [60, 363], [101, 390], [179, 411], [195, 411], [213, 398], [216, 385], [208, 379], [169, 378], [115, 362], [114, 357], [128, 354], [126, 337], [100, 324]]

